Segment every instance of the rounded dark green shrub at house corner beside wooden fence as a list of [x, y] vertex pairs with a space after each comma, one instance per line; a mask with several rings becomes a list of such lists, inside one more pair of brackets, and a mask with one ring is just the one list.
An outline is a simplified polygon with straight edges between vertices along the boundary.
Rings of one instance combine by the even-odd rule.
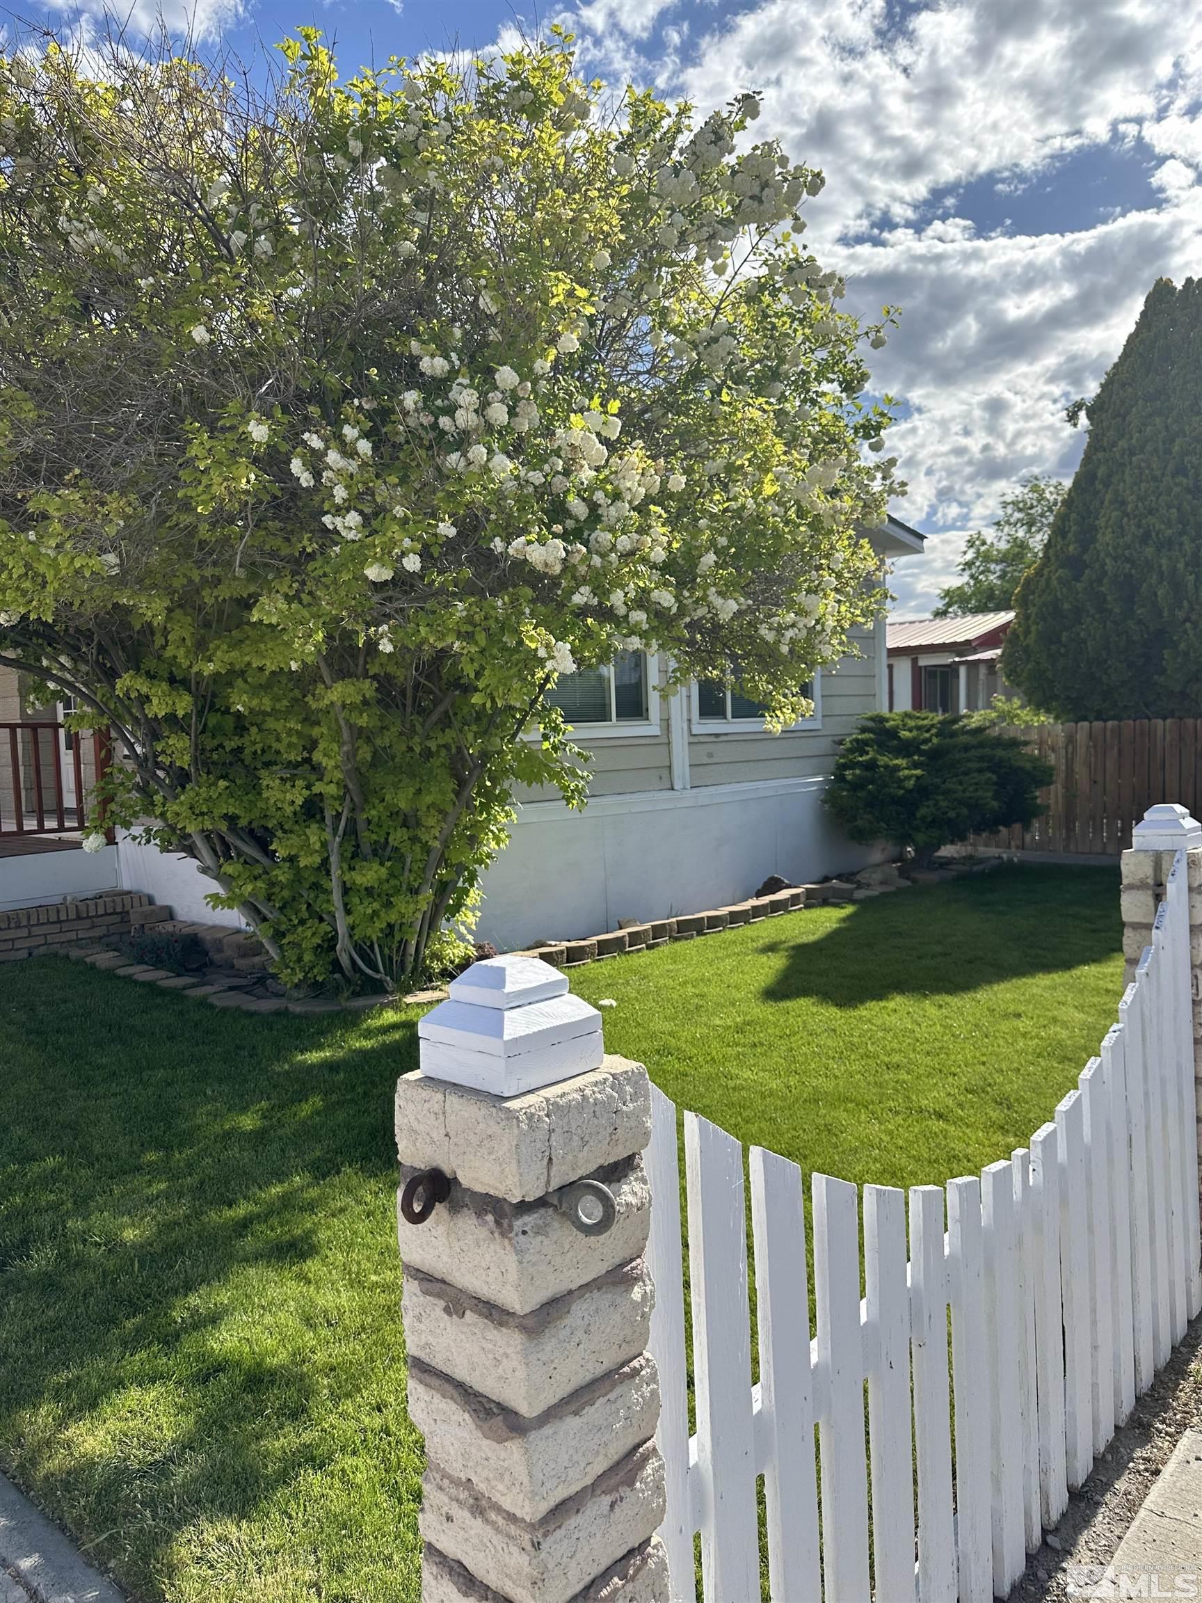
[[1031, 824], [1048, 765], [1019, 739], [933, 712], [870, 713], [843, 742], [827, 806], [857, 842], [920, 862], [968, 835]]

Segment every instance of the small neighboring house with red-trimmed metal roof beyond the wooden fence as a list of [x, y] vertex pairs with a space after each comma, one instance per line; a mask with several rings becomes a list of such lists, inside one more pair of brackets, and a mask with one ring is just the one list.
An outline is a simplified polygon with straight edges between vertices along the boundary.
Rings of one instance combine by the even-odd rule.
[[1013, 622], [1013, 612], [889, 622], [889, 712], [976, 712], [1016, 697], [997, 667]]

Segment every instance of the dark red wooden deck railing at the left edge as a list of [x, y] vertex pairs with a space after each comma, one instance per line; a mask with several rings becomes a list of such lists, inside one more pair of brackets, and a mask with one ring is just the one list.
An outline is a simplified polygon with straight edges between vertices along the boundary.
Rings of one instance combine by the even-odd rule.
[[[91, 745], [88, 761], [85, 741]], [[0, 837], [85, 829], [96, 784], [111, 760], [104, 729], [80, 734], [63, 723], [32, 718], [0, 723]]]

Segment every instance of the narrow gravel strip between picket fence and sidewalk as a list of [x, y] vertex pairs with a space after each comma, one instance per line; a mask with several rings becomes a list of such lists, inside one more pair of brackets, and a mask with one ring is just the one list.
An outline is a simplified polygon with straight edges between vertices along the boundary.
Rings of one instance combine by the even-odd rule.
[[1027, 1558], [1011, 1603], [1069, 1598], [1069, 1565], [1109, 1565], [1181, 1433], [1202, 1423], [1202, 1314], [1131, 1411], [1093, 1473]]

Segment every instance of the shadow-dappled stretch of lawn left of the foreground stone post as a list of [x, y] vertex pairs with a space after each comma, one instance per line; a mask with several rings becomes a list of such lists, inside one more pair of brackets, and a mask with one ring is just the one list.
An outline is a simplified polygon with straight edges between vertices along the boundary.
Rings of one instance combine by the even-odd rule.
[[[417, 1597], [391, 1223], [415, 1061], [415, 1015], [0, 971], [0, 1464], [138, 1597]], [[356, 1548], [388, 1529], [385, 1590]]]

